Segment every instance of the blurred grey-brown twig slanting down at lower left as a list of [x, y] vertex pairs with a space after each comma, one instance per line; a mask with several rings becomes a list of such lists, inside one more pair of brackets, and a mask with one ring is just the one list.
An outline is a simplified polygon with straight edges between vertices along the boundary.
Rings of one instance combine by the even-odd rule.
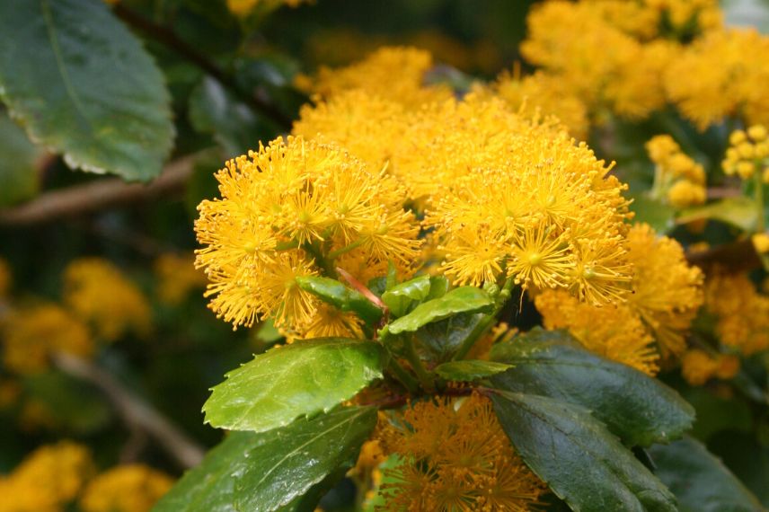
[[203, 460], [204, 450], [187, 437], [171, 421], [149, 403], [131, 393], [102, 368], [82, 359], [59, 352], [53, 356], [54, 364], [65, 372], [98, 387], [118, 410], [131, 430], [140, 429], [155, 438], [168, 455], [183, 468], [190, 468]]

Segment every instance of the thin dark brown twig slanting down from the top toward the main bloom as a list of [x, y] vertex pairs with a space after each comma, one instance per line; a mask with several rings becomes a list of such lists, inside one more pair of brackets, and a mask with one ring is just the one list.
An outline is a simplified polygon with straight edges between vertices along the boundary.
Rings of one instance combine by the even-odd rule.
[[181, 40], [181, 38], [169, 28], [147, 20], [144, 16], [133, 12], [124, 5], [116, 4], [112, 9], [123, 22], [128, 23], [128, 25], [134, 27], [138, 31], [144, 32], [147, 37], [172, 49], [180, 57], [189, 60], [192, 64], [208, 73], [208, 75], [216, 78], [220, 84], [237, 94], [241, 100], [248, 104], [254, 111], [260, 112], [265, 117], [270, 118], [277, 123], [280, 128], [291, 128], [292, 120], [288, 118], [286, 114], [278, 110], [272, 103], [265, 102], [254, 94], [244, 92], [232, 76], [227, 75], [221, 67], [217, 66], [214, 61], [200, 53], [198, 49], [195, 49], [184, 40]]

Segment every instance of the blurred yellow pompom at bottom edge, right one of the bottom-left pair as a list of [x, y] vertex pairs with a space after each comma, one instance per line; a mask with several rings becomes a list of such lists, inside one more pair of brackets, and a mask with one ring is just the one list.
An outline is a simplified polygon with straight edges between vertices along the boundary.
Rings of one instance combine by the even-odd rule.
[[149, 512], [172, 485], [164, 472], [142, 464], [120, 465], [88, 483], [80, 506], [84, 512]]

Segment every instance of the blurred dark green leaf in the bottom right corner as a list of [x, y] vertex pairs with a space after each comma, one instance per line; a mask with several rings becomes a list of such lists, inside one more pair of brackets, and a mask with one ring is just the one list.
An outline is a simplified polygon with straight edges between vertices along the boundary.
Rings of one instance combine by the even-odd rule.
[[761, 504], [720, 459], [691, 437], [667, 446], [655, 445], [650, 455], [659, 480], [678, 499], [681, 512], [756, 512]]

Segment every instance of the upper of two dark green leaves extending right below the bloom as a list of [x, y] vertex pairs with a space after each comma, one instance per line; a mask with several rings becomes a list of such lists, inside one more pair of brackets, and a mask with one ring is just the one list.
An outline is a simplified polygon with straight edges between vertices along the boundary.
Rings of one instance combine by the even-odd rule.
[[491, 378], [499, 389], [542, 394], [593, 411], [629, 446], [682, 437], [694, 408], [659, 380], [580, 348], [565, 331], [530, 331], [491, 349], [514, 369]]

